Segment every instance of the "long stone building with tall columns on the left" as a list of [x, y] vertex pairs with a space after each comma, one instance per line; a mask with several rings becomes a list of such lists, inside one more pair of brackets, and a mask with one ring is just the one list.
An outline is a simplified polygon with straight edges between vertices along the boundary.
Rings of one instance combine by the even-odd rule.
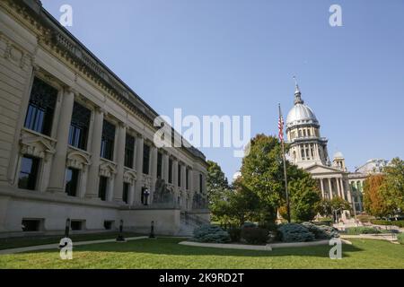
[[40, 1], [1, 1], [0, 236], [59, 233], [67, 218], [165, 234], [184, 214], [208, 221], [205, 156], [157, 148], [157, 116]]

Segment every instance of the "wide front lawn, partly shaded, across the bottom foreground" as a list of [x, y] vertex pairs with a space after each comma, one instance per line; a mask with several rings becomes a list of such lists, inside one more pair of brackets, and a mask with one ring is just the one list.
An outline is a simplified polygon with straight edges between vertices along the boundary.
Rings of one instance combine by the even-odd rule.
[[74, 248], [73, 260], [58, 250], [0, 256], [0, 268], [404, 268], [404, 246], [383, 240], [352, 239], [342, 259], [329, 259], [329, 246], [273, 251], [198, 248], [181, 239], [140, 239]]

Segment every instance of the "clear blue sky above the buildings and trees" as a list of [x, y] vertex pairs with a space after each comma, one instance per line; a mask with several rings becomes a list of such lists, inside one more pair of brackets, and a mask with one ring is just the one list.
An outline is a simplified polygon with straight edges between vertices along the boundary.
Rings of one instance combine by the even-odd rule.
[[[404, 157], [402, 0], [42, 0], [160, 114], [250, 115], [252, 135], [277, 134], [277, 103], [303, 100], [350, 170]], [[329, 6], [343, 27], [329, 26]], [[233, 149], [201, 149], [229, 178]]]

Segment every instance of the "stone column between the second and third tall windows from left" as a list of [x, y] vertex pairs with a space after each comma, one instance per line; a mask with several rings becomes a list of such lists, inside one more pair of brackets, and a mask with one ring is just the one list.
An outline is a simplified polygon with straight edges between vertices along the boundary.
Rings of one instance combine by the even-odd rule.
[[97, 108], [94, 111], [94, 122], [92, 127], [92, 164], [88, 172], [87, 193], [85, 197], [98, 197], [98, 183], [100, 172], [100, 152], [101, 152], [101, 136], [102, 123], [104, 120], [103, 109]]

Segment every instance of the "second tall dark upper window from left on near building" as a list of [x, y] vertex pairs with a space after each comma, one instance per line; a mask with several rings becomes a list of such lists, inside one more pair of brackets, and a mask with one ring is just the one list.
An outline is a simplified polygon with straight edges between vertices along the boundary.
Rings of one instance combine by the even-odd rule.
[[87, 150], [88, 126], [92, 112], [75, 102], [69, 130], [69, 144], [83, 151]]

